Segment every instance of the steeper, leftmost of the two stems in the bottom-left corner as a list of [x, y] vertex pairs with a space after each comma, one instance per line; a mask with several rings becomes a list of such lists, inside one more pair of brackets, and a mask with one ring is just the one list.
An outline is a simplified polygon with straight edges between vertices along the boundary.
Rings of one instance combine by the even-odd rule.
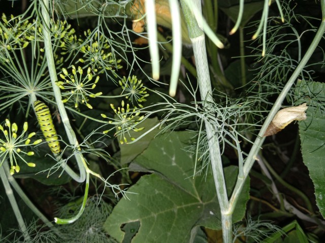
[[8, 166], [7, 160], [5, 160], [3, 165], [0, 166], [1, 180], [2, 180], [2, 183], [3, 183], [4, 187], [5, 187], [5, 191], [6, 191], [6, 194], [8, 196], [8, 199], [10, 201], [12, 210], [13, 210], [13, 212], [14, 212], [14, 214], [16, 216], [16, 219], [18, 221], [19, 228], [20, 228], [21, 232], [24, 235], [25, 241], [29, 242], [29, 241], [31, 241], [31, 238], [30, 238], [30, 236], [28, 234], [27, 227], [25, 225], [24, 219], [22, 218], [22, 215], [20, 213], [16, 198], [14, 196], [14, 192], [11, 189], [11, 186], [9, 184], [8, 176], [7, 176], [7, 173], [5, 172], [6, 167], [8, 167], [8, 171], [9, 171], [9, 166]]

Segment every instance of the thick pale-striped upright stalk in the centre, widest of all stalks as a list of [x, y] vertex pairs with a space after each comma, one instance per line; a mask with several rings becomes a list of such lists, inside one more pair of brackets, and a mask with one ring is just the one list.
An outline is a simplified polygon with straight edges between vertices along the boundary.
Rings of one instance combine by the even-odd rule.
[[[200, 2], [194, 4], [194, 6], [197, 6], [198, 4], [200, 4]], [[213, 110], [211, 110], [213, 98], [204, 32], [196, 22], [196, 18], [192, 11], [183, 0], [181, 1], [181, 5], [187, 23], [189, 37], [193, 46], [201, 100], [206, 101], [206, 103], [204, 103], [204, 108], [209, 110], [211, 113], [214, 113]], [[225, 188], [217, 129], [209, 120], [205, 120], [205, 127], [209, 145], [211, 169], [221, 210], [223, 242], [232, 242], [232, 215], [224, 213], [228, 210], [229, 205]]]

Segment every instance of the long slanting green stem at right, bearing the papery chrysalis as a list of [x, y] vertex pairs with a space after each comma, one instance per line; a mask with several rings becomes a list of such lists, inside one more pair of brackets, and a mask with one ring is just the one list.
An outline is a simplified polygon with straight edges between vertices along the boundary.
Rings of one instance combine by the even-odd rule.
[[[321, 8], [322, 8], [322, 13], [325, 13], [325, 0], [321, 1]], [[287, 84], [284, 86], [282, 92], [280, 93], [278, 99], [275, 101], [268, 117], [266, 118], [261, 131], [259, 131], [257, 138], [255, 139], [255, 142], [248, 154], [248, 157], [246, 159], [245, 165], [244, 165], [244, 178], [238, 178], [236, 186], [234, 188], [232, 197], [230, 199], [230, 208], [229, 208], [229, 213], [234, 212], [237, 200], [239, 198], [239, 194], [243, 188], [245, 179], [247, 178], [247, 175], [251, 169], [251, 167], [254, 164], [254, 161], [256, 159], [256, 155], [258, 153], [258, 151], [261, 149], [261, 146], [264, 142], [264, 133], [267, 129], [267, 127], [269, 126], [269, 124], [271, 123], [271, 120], [273, 119], [273, 117], [275, 116], [275, 114], [277, 113], [277, 111], [280, 109], [281, 104], [283, 102], [283, 100], [285, 99], [287, 93], [289, 92], [291, 86], [293, 86], [293, 84], [295, 83], [297, 77], [299, 76], [299, 73], [303, 70], [303, 68], [305, 67], [306, 63], [308, 62], [308, 60], [310, 59], [311, 55], [313, 54], [313, 52], [315, 51], [317, 45], [319, 44], [323, 34], [325, 32], [325, 16], [323, 15], [322, 18], [322, 22], [317, 30], [317, 33], [311, 43], [311, 45], [309, 46], [306, 54], [304, 55], [304, 57], [302, 58], [301, 62], [299, 63], [299, 65], [297, 66], [296, 70], [294, 71], [294, 73], [291, 75], [291, 77], [289, 78]]]

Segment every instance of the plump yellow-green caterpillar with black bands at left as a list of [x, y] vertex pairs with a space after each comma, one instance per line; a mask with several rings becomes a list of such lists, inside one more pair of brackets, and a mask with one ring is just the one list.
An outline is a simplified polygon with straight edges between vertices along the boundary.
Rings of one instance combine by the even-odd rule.
[[47, 141], [52, 153], [59, 153], [60, 143], [58, 142], [58, 136], [53, 125], [49, 107], [47, 107], [43, 102], [37, 100], [34, 102], [34, 109], [45, 140]]

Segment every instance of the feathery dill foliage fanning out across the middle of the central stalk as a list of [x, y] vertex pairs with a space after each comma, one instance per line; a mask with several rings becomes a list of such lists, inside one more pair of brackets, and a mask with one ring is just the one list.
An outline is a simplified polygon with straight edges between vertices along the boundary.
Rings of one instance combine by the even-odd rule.
[[164, 112], [161, 118], [161, 124], [164, 126], [161, 126], [160, 133], [183, 129], [193, 132], [195, 142], [187, 146], [186, 150], [196, 154], [194, 174], [207, 173], [209, 168], [209, 146], [204, 126], [206, 122], [214, 128], [214, 134], [220, 141], [221, 153], [225, 149], [234, 149], [242, 161], [246, 153], [241, 150], [240, 143], [250, 143], [245, 133], [251, 133], [255, 129], [255, 124], [248, 123], [245, 119], [248, 114], [257, 113], [251, 106], [252, 102], [229, 98], [222, 93], [215, 93], [213, 102], [197, 101], [197, 90], [193, 89], [191, 83], [183, 85], [188, 92], [186, 97], [193, 100], [189, 104], [177, 102], [169, 96], [155, 92], [164, 97], [166, 102], [147, 106], [146, 109], [152, 111], [141, 109], [141, 112], [147, 112], [147, 115]]

